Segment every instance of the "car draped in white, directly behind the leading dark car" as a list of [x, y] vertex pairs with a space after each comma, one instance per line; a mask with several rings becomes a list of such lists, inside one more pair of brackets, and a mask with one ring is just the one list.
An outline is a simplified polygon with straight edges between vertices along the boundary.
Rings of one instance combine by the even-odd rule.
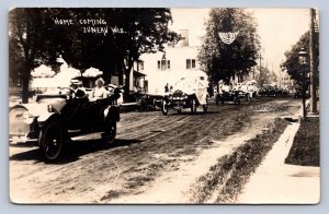
[[166, 116], [169, 109], [179, 114], [184, 108], [190, 108], [194, 114], [198, 106], [207, 111], [207, 81], [205, 76], [196, 76], [193, 80], [182, 78], [173, 87], [172, 92], [166, 94], [161, 102], [161, 111]]

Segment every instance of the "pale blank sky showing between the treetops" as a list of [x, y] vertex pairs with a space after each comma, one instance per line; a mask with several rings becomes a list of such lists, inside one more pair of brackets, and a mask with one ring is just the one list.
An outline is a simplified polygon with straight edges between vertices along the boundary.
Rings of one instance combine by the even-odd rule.
[[[262, 46], [262, 66], [280, 71], [284, 52], [288, 51], [299, 37], [308, 31], [308, 9], [246, 9], [253, 12], [258, 34]], [[189, 29], [190, 45], [201, 45], [200, 38], [205, 34], [204, 22], [208, 17], [208, 8], [171, 9], [173, 23], [171, 29]]]

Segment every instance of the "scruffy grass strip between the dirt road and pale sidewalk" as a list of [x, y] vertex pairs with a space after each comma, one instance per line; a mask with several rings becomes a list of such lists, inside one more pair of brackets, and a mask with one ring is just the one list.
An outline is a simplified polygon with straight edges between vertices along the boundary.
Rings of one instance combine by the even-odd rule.
[[214, 193], [218, 193], [215, 195], [215, 203], [236, 201], [287, 124], [286, 120], [276, 118], [274, 122], [266, 124], [268, 129], [262, 134], [247, 141], [231, 154], [220, 157], [205, 176], [197, 179], [191, 190], [191, 201], [205, 203]]

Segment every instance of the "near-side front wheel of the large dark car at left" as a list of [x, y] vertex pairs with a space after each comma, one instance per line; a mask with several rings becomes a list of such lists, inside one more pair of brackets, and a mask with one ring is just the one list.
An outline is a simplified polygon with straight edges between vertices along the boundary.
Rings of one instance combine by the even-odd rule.
[[39, 133], [39, 150], [43, 156], [49, 160], [57, 160], [61, 155], [65, 134], [58, 122], [45, 124]]

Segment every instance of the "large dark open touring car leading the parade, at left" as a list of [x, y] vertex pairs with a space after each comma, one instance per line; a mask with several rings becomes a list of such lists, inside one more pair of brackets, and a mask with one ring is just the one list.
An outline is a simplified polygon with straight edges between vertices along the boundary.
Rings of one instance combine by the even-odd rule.
[[93, 102], [83, 93], [36, 95], [35, 103], [10, 108], [9, 141], [33, 142], [50, 162], [60, 157], [63, 145], [73, 136], [98, 132], [104, 143], [112, 143], [120, 121], [120, 109], [114, 105], [118, 97], [118, 90]]

